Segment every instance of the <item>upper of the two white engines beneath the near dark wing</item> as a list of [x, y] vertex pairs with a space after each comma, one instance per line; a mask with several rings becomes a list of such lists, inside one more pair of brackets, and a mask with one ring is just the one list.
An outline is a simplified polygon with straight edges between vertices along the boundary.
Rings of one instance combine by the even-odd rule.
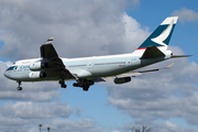
[[41, 70], [44, 68], [47, 68], [47, 63], [42, 63], [42, 62], [34, 62], [30, 64], [30, 69], [31, 70]]

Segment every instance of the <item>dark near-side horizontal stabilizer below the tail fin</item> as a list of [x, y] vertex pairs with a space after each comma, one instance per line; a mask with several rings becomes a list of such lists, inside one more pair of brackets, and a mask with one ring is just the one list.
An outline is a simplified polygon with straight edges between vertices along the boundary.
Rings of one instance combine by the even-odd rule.
[[165, 56], [156, 46], [148, 46], [140, 59], [148, 59]]

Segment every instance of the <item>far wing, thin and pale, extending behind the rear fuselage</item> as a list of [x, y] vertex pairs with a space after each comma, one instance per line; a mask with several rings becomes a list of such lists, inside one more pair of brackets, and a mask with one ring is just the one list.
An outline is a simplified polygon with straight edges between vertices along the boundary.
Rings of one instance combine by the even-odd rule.
[[[172, 64], [169, 64], [168, 66], [163, 67], [163, 68], [155, 68], [155, 69], [148, 69], [148, 70], [139, 70], [139, 72], [130, 72], [130, 73], [117, 75], [117, 76], [114, 76], [114, 77], [117, 77], [117, 78], [135, 77], [135, 76], [142, 75], [142, 73], [157, 72], [157, 70], [161, 70], [161, 69], [167, 69], [167, 68], [170, 68], [173, 65], [174, 65], [174, 63], [172, 63]], [[113, 80], [114, 77], [101, 77], [101, 78], [98, 79], [98, 80], [100, 80], [100, 81], [108, 81], [108, 80]]]

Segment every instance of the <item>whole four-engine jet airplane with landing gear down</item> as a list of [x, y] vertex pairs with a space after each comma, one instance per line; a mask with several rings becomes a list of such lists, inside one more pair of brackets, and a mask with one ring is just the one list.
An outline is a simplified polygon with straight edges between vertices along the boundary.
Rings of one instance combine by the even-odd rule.
[[190, 56], [173, 55], [173, 52], [167, 50], [177, 20], [178, 16], [166, 18], [133, 53], [129, 54], [61, 58], [52, 44], [54, 37], [50, 37], [40, 47], [40, 58], [18, 61], [4, 72], [4, 76], [16, 80], [18, 90], [22, 90], [22, 81], [52, 80], [66, 88], [65, 80], [76, 80], [73, 86], [85, 91], [100, 81], [125, 84], [142, 73], [170, 68], [173, 64], [164, 68], [134, 72], [139, 68], [169, 58]]

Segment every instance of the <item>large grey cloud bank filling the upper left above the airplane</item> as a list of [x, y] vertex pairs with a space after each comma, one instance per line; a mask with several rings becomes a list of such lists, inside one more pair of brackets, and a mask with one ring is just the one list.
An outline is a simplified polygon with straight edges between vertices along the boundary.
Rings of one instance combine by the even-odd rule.
[[[40, 45], [52, 35], [55, 48], [65, 57], [128, 52], [125, 22], [122, 21], [127, 1], [74, 0], [58, 4], [56, 1], [26, 1], [22, 7], [1, 1], [0, 40], [4, 46], [0, 55], [12, 61], [38, 57]], [[129, 2], [136, 4], [139, 0]], [[130, 37], [141, 40], [134, 33]]]

